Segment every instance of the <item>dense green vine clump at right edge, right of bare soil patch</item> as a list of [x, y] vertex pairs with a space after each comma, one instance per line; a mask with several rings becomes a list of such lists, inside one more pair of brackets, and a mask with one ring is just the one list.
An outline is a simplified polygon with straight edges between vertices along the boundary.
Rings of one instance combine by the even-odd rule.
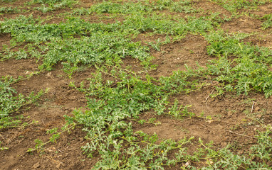
[[[263, 91], [265, 96], [272, 95], [272, 73], [266, 63], [272, 62], [272, 50], [240, 42], [244, 35], [222, 37], [220, 33], [207, 35], [210, 45], [209, 55], [219, 57], [208, 64], [208, 72], [218, 75], [217, 81], [231, 84], [228, 91], [248, 94], [249, 91]], [[229, 61], [228, 57], [235, 56]]]

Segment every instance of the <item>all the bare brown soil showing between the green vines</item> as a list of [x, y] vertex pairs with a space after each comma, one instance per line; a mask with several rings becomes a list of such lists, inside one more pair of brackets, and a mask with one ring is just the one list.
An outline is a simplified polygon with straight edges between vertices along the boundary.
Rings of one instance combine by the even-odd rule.
[[[24, 2], [16, 1], [11, 5], [0, 2], [0, 6], [23, 6]], [[83, 0], [76, 7], [88, 8], [94, 3], [98, 3], [98, 1]], [[202, 8], [204, 11], [221, 12], [226, 16], [231, 15], [224, 8], [210, 1], [196, 1], [194, 7]], [[269, 9], [271, 11], [271, 4], [266, 4], [261, 6], [260, 10], [255, 13], [263, 16], [268, 13]], [[63, 21], [63, 18], [57, 15], [67, 11], [70, 11], [70, 9], [61, 9], [51, 13], [27, 11], [26, 13], [4, 14], [1, 15], [0, 21], [4, 20], [4, 18], [15, 18], [21, 14], [28, 16], [32, 13], [34, 17], [41, 18], [54, 15], [48, 23], [59, 23]], [[84, 19], [90, 22], [97, 22], [99, 17], [90, 16]], [[115, 22], [115, 19], [108, 22]], [[221, 27], [230, 33], [262, 33], [261, 37], [252, 35], [246, 41], [254, 45], [271, 47], [271, 34], [268, 33], [268, 30], [261, 30], [261, 21], [258, 19], [242, 16], [223, 23]], [[155, 42], [158, 38], [162, 41], [165, 40], [163, 35], [149, 36], [144, 33], [135, 38], [135, 41], [141, 41], [142, 44], [147, 45], [148, 42]], [[9, 45], [10, 40], [11, 35], [0, 34], [0, 52], [2, 45]], [[153, 63], [157, 64], [157, 69], [149, 71], [150, 76], [155, 78], [169, 76], [173, 71], [185, 70], [184, 64], [196, 68], [196, 62], [205, 67], [206, 63], [214, 58], [207, 55], [207, 45], [206, 40], [202, 36], [189, 34], [182, 40], [162, 45], [160, 51], [151, 49], [151, 55], [155, 57]], [[131, 58], [124, 59], [123, 67], [127, 66], [132, 66], [132, 70], [139, 72], [139, 74], [142, 71], [142, 66], [137, 60]], [[8, 75], [12, 77], [26, 76], [37, 71], [38, 63], [34, 59], [12, 59], [0, 62], [0, 77]], [[63, 115], [73, 115], [75, 108], [85, 108], [86, 99], [84, 94], [71, 88], [69, 84], [70, 81], [75, 81], [75, 84], [79, 84], [81, 81], [89, 78], [93, 72], [95, 72], [94, 68], [85, 68], [83, 71], [73, 74], [72, 79], [69, 79], [67, 74], [62, 71], [61, 64], [58, 64], [51, 72], [35, 74], [29, 79], [14, 84], [14, 89], [20, 94], [28, 95], [31, 91], [38, 92], [41, 89], [48, 89], [48, 93], [41, 98], [37, 105], [32, 105], [29, 110], [20, 113], [26, 117], [29, 116], [24, 121], [31, 123], [32, 120], [37, 120], [38, 123], [26, 128], [0, 130], [1, 147], [9, 147], [9, 149], [0, 151], [0, 169], [92, 169], [99, 157], [90, 159], [83, 154], [80, 147], [88, 141], [85, 140], [85, 133], [81, 131], [81, 127], [76, 127], [70, 133], [66, 132], [61, 135], [56, 144], [46, 145], [43, 153], [33, 152], [33, 154], [29, 154], [26, 151], [28, 148], [35, 147], [36, 143], [34, 140], [37, 138], [43, 141], [49, 139], [50, 135], [46, 134], [46, 130], [61, 128], [65, 123]], [[157, 133], [160, 141], [169, 138], [180, 140], [185, 136], [194, 136], [198, 140], [201, 137], [204, 142], [214, 141], [216, 149], [231, 144], [237, 148], [240, 147], [238, 154], [244, 154], [251, 145], [256, 144], [256, 139], [252, 137], [257, 135], [257, 130], [261, 130], [261, 128], [256, 128], [258, 123], [249, 119], [248, 115], [258, 118], [262, 123], [272, 124], [272, 99], [264, 98], [263, 94], [254, 93], [249, 94], [249, 96], [226, 94], [211, 98], [208, 96], [215, 93], [213, 84], [216, 84], [216, 82], [207, 81], [207, 84], [199, 91], [172, 96], [171, 100], [174, 101], [174, 98], [177, 98], [183, 106], [192, 105], [189, 111], [196, 115], [204, 113], [204, 116], [211, 116], [212, 120], [205, 118], [183, 118], [177, 120], [169, 115], [155, 115], [147, 112], [142, 113], [140, 118], [145, 120], [157, 118], [157, 121], [161, 124], [140, 125], [133, 122], [135, 131], [142, 130], [148, 134]], [[252, 98], [253, 100], [250, 100]], [[253, 101], [255, 104], [252, 109]], [[16, 114], [19, 113], [14, 113], [14, 115]], [[195, 149], [195, 146], [194, 143], [187, 145], [192, 150]], [[236, 151], [234, 150], [234, 152]], [[182, 164], [177, 169], [180, 166]]]

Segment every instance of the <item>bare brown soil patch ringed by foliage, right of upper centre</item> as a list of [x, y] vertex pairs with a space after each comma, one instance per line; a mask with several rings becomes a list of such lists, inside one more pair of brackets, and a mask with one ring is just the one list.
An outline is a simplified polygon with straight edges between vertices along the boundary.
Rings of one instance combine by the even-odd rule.
[[178, 42], [169, 43], [161, 47], [160, 52], [153, 52], [157, 70], [155, 77], [166, 77], [173, 71], [186, 70], [184, 64], [196, 69], [197, 63], [205, 67], [212, 57], [206, 53], [207, 42], [201, 36], [187, 35]]

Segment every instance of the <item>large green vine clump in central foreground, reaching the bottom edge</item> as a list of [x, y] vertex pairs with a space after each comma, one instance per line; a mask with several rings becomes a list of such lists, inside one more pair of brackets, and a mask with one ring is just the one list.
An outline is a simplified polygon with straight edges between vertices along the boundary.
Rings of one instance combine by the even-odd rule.
[[[87, 132], [88, 144], [83, 150], [89, 157], [93, 157], [95, 152], [99, 152], [102, 159], [94, 166], [94, 169], [130, 169], [141, 167], [142, 169], [163, 169], [163, 166], [177, 164], [187, 160], [184, 144], [190, 142], [184, 138], [178, 142], [165, 140], [159, 145], [155, 144], [157, 135], [147, 135], [144, 132], [133, 132], [132, 123], [127, 122], [131, 118], [138, 119], [138, 116], [145, 111], [155, 111], [158, 115], [165, 113], [168, 107], [167, 98], [170, 89], [189, 86], [183, 77], [184, 73], [179, 72], [169, 79], [164, 78], [159, 85], [152, 83], [151, 77], [146, 77], [146, 81], [138, 79], [122, 69], [111, 69], [110, 75], [118, 79], [114, 81], [104, 81], [102, 73], [108, 72], [105, 68], [100, 68], [93, 79], [90, 79], [89, 86], [82, 83], [80, 87], [74, 86], [79, 91], [83, 91], [88, 98], [87, 111], [74, 111], [74, 117], [68, 122], [75, 122], [84, 125], [83, 130]], [[177, 79], [176, 79], [176, 78]], [[172, 82], [175, 79], [176, 82]], [[182, 79], [182, 80], [179, 80]], [[179, 82], [184, 81], [182, 84]], [[172, 88], [167, 88], [172, 86]], [[98, 98], [92, 98], [97, 96]], [[187, 108], [178, 107], [178, 102], [169, 108], [170, 115], [181, 118], [187, 116]], [[193, 115], [192, 115], [193, 116]], [[142, 122], [142, 121], [141, 121]], [[144, 123], [144, 122], [142, 122]], [[136, 137], [137, 136], [137, 137]], [[140, 142], [139, 142], [140, 141]], [[122, 152], [120, 148], [127, 145]], [[169, 159], [167, 155], [174, 149], [180, 149], [175, 159]]]

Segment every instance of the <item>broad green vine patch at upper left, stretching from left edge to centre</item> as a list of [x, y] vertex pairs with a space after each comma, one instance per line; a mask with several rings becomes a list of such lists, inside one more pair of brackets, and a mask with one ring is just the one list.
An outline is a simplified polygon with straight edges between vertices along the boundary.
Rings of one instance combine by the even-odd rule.
[[[78, 18], [70, 18], [67, 23], [58, 25], [39, 24], [32, 17], [24, 16], [1, 25], [3, 33], [11, 33], [16, 42], [38, 45], [43, 53], [37, 51], [39, 55], [35, 56], [43, 59], [41, 69], [51, 69], [57, 62], [67, 62], [64, 64], [66, 69], [78, 64], [120, 63], [121, 58], [127, 56], [147, 60], [150, 57], [148, 47], [132, 42], [126, 33], [115, 33], [117, 27], [120, 23], [87, 23]], [[82, 37], [74, 38], [75, 35]], [[46, 45], [39, 45], [41, 42], [46, 42]]]

